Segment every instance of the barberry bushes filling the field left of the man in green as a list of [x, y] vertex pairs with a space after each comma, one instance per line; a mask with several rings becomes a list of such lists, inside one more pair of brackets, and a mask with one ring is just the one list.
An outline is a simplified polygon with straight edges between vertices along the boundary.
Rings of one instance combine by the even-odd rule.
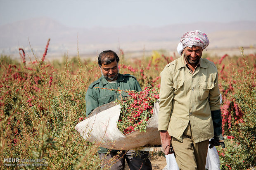
[[46, 51], [33, 62], [25, 60], [25, 53], [21, 62], [0, 57], [0, 167], [12, 169], [3, 166], [4, 159], [18, 158], [46, 160], [47, 169], [100, 169], [99, 146], [74, 129], [85, 116], [86, 84], [94, 66], [86, 61], [82, 66], [79, 58], [73, 59], [75, 67], [67, 59], [46, 63]]

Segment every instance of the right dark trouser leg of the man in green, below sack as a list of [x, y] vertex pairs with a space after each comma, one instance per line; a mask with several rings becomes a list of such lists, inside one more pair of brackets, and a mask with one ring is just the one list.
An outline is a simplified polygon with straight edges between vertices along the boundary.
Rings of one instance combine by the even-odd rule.
[[152, 170], [149, 152], [129, 150], [126, 153], [125, 159], [130, 170]]

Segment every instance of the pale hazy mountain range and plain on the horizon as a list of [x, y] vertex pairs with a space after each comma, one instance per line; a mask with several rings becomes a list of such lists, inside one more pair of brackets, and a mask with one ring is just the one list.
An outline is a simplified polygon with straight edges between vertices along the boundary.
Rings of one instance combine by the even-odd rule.
[[[256, 22], [239, 21], [232, 23], [187, 23], [157, 27], [126, 26], [119, 28], [75, 28], [64, 26], [57, 21], [41, 17], [0, 26], [0, 53], [18, 54], [18, 48], [44, 51], [48, 38], [48, 53], [63, 55], [96, 54], [106, 49], [123, 51], [152, 51], [166, 49], [175, 51], [180, 37], [190, 30], [201, 30], [210, 40], [208, 48], [256, 47]], [[29, 41], [28, 41], [29, 39]]]

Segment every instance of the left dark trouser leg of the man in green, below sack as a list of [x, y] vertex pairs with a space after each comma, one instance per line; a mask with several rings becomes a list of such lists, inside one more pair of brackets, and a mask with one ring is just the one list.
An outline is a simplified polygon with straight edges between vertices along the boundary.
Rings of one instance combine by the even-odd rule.
[[125, 151], [114, 151], [110, 152], [109, 154], [98, 153], [98, 156], [102, 160], [101, 168], [107, 168], [110, 170], [124, 170], [125, 154]]

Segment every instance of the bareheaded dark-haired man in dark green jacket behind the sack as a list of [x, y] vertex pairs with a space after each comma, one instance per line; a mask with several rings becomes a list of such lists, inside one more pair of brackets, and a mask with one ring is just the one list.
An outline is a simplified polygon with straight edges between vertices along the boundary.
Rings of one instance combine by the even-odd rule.
[[[115, 91], [117, 89], [141, 91], [140, 85], [134, 76], [130, 74], [119, 74], [118, 62], [119, 57], [114, 51], [109, 50], [100, 53], [98, 64], [102, 76], [93, 82], [86, 92], [86, 116], [90, 115], [92, 110], [98, 106], [120, 99], [119, 92]], [[122, 97], [126, 97], [128, 93], [123, 92], [121, 95]], [[111, 165], [111, 170], [124, 170], [125, 160], [131, 170], [152, 170], [148, 152], [135, 153], [132, 150], [116, 151], [100, 147], [98, 154], [100, 159], [103, 160], [102, 168], [107, 166], [109, 159], [118, 156], [119, 159]]]

